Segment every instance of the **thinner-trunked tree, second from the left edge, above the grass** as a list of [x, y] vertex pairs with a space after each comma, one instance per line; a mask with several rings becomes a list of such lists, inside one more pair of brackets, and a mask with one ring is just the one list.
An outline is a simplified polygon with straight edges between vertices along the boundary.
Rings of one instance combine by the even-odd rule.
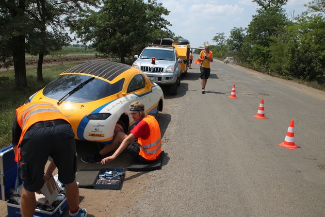
[[79, 11], [95, 7], [100, 0], [33, 0], [28, 15], [33, 19], [34, 31], [29, 35], [29, 52], [38, 54], [37, 80], [43, 81], [43, 60], [50, 51], [60, 50], [71, 42], [65, 27], [77, 19]]

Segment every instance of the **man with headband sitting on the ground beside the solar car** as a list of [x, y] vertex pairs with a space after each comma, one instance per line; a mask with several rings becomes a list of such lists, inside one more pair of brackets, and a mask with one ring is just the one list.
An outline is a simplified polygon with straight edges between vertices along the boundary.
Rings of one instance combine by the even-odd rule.
[[[113, 155], [101, 160], [101, 164], [109, 163], [125, 149], [139, 162], [148, 163], [159, 159], [162, 151], [162, 136], [160, 127], [155, 117], [145, 114], [145, 106], [141, 102], [133, 102], [130, 105], [130, 115], [139, 123], [127, 135], [117, 132], [113, 142], [106, 145], [101, 151], [101, 156], [115, 150]], [[136, 141], [137, 139], [137, 141]]]

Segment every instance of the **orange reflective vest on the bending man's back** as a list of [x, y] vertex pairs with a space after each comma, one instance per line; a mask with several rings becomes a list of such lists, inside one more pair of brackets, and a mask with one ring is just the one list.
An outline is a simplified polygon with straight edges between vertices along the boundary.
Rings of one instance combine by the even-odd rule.
[[20, 160], [19, 146], [27, 130], [34, 124], [40, 121], [68, 119], [54, 105], [48, 102], [29, 102], [16, 109], [17, 123], [22, 132], [16, 149], [15, 161]]

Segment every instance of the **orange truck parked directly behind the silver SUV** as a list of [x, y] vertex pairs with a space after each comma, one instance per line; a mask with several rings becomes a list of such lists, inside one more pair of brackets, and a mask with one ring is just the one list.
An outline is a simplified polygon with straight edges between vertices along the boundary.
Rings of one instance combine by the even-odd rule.
[[179, 58], [183, 59], [180, 63], [180, 71], [182, 74], [186, 74], [190, 59], [190, 42], [185, 38], [181, 38], [178, 41], [174, 41], [172, 45], [175, 47]]

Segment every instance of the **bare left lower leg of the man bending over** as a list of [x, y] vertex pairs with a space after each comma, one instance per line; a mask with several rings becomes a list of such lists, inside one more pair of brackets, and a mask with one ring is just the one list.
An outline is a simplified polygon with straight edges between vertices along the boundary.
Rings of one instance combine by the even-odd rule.
[[21, 216], [33, 217], [36, 208], [35, 192], [22, 189], [21, 193]]

